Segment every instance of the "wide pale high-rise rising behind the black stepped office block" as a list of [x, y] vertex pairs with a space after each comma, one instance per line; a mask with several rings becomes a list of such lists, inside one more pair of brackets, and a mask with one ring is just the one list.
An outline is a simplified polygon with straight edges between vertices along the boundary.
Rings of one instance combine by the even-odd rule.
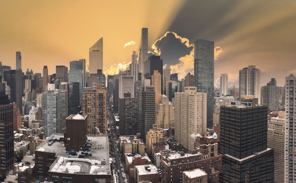
[[260, 101], [260, 69], [255, 65], [239, 70], [239, 98], [245, 95], [254, 95]]

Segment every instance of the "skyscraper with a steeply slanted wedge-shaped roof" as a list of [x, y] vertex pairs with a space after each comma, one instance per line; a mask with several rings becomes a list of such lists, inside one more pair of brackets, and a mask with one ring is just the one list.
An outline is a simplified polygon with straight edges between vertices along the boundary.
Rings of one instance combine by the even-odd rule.
[[89, 48], [89, 73], [97, 73], [103, 70], [103, 37]]

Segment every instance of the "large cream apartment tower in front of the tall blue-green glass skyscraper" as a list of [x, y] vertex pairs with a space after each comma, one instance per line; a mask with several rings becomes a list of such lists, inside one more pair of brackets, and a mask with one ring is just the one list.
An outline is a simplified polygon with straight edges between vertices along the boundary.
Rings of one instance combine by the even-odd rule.
[[185, 87], [175, 93], [175, 139], [189, 150], [195, 150], [197, 136], [207, 130], [207, 94], [196, 87]]

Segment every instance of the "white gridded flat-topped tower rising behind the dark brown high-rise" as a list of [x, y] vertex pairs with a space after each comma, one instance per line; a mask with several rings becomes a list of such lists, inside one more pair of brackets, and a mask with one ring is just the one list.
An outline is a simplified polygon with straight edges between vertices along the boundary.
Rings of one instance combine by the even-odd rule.
[[118, 78], [118, 98], [123, 98], [124, 93], [131, 93], [134, 97], [134, 81], [133, 76], [120, 76]]

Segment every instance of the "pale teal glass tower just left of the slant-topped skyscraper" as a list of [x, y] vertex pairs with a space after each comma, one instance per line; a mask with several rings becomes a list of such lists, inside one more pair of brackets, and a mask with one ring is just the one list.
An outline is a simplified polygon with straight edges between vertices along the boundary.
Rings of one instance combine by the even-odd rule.
[[[82, 61], [75, 60], [70, 62], [69, 82], [79, 83], [79, 105], [82, 106], [82, 88], [83, 88], [83, 62]], [[74, 113], [70, 113], [70, 114], [74, 114]]]

